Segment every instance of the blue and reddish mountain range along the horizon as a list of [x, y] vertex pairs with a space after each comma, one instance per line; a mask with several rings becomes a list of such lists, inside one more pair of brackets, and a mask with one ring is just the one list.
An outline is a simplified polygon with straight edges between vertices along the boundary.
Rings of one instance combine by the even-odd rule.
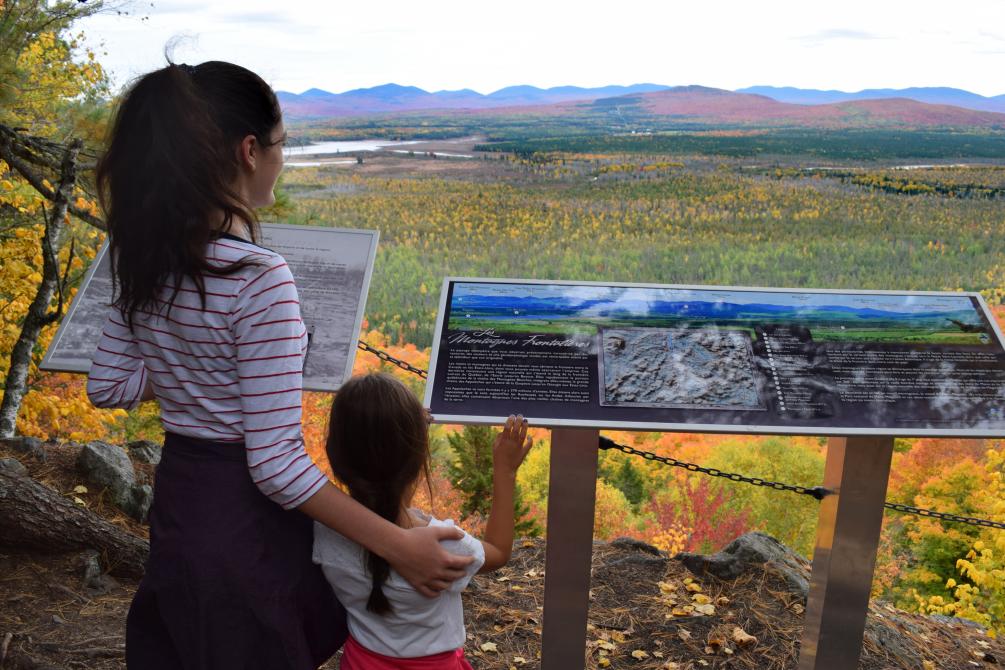
[[[460, 90], [439, 90], [428, 92], [416, 86], [402, 86], [388, 83], [372, 88], [356, 88], [343, 93], [332, 93], [320, 88], [311, 88], [303, 93], [279, 91], [279, 102], [283, 113], [289, 119], [360, 117], [375, 114], [395, 114], [433, 109], [499, 109], [506, 107], [529, 107], [555, 105], [568, 102], [591, 102], [598, 99], [628, 97], [637, 99], [645, 95], [659, 99], [660, 93], [673, 91], [718, 91], [719, 100], [726, 102], [731, 94], [738, 97], [732, 101], [747, 104], [757, 102], [759, 107], [765, 107], [767, 102], [778, 102], [790, 105], [822, 106], [844, 103], [860, 103], [870, 100], [910, 100], [926, 105], [941, 107], [953, 106], [962, 109], [983, 113], [1005, 114], [1005, 95], [985, 97], [959, 88], [948, 87], [914, 87], [914, 88], [873, 88], [857, 92], [840, 90], [816, 90], [793, 87], [751, 86], [736, 91], [728, 91], [705, 86], [665, 86], [654, 83], [637, 83], [630, 86], [601, 86], [584, 88], [580, 86], [556, 86], [553, 88], [538, 88], [537, 86], [521, 85], [500, 88], [487, 95], [462, 88]], [[873, 103], [871, 106], [855, 108], [881, 108], [883, 105]], [[889, 106], [888, 103], [886, 106]], [[775, 107], [781, 111], [785, 107]], [[914, 116], [921, 107], [915, 105]], [[688, 114], [683, 110], [681, 114]], [[803, 114], [798, 109], [785, 111], [785, 117], [800, 119], [814, 117], [814, 113]], [[924, 115], [923, 115], [924, 116]], [[940, 113], [935, 111], [935, 116]], [[979, 124], [980, 125], [980, 124]]]

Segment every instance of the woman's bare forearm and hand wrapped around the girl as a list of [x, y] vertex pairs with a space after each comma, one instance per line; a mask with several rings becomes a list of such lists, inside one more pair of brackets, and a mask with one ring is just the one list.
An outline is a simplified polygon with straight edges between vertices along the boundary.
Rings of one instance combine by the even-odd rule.
[[[383, 556], [423, 596], [432, 598], [464, 576], [474, 559], [447, 553], [441, 539], [460, 539], [459, 528], [405, 529], [367, 509], [328, 483], [308, 498], [300, 511]], [[511, 531], [512, 532], [512, 531]]]

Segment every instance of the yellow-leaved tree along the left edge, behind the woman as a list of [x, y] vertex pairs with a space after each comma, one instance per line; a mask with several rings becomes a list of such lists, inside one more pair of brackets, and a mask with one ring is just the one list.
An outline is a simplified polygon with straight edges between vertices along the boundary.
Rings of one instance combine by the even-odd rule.
[[[70, 156], [59, 141], [86, 126], [76, 121], [91, 115], [80, 110], [108, 90], [94, 54], [78, 53], [79, 36], [68, 35], [74, 20], [100, 6], [41, 0], [0, 4], [0, 131], [5, 148], [4, 160], [0, 160], [0, 262], [4, 267], [0, 275], [0, 375], [8, 382], [24, 380], [17, 394], [11, 393], [11, 402], [4, 403], [5, 434], [14, 427], [14, 412], [18, 412], [16, 430], [21, 434], [71, 439], [105, 437], [124, 415], [90, 407], [82, 379], [38, 371], [55, 323], [30, 330], [37, 332], [33, 342], [25, 338], [32, 303], [39, 296], [51, 295], [42, 298], [36, 311], [40, 307], [58, 314], [72, 298], [74, 279], [102, 242], [99, 231], [91, 227], [100, 223], [96, 203], [79, 187], [78, 170], [74, 166], [74, 179], [66, 184], [59, 177], [68, 174], [59, 165], [60, 159]], [[60, 183], [53, 185], [50, 178]], [[56, 201], [59, 207], [48, 207]], [[69, 214], [91, 225], [71, 220]], [[43, 280], [46, 271], [49, 276]], [[53, 283], [56, 290], [52, 290]], [[19, 341], [33, 347], [16, 345]], [[23, 398], [18, 398], [23, 392]]]

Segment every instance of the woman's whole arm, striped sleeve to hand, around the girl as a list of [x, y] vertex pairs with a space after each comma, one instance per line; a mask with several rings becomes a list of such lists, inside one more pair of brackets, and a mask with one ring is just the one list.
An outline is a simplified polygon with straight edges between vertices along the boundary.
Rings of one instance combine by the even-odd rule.
[[439, 545], [459, 532], [398, 527], [336, 488], [307, 453], [300, 428], [307, 328], [292, 273], [281, 257], [262, 261], [238, 290], [231, 330], [248, 469], [259, 490], [383, 556], [425, 596], [461, 577], [470, 559]]

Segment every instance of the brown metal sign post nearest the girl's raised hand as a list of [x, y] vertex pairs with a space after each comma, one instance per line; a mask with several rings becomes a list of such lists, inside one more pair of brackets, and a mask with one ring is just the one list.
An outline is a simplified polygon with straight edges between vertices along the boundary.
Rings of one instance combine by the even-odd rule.
[[599, 437], [589, 429], [552, 431], [541, 645], [544, 670], [585, 665]]

